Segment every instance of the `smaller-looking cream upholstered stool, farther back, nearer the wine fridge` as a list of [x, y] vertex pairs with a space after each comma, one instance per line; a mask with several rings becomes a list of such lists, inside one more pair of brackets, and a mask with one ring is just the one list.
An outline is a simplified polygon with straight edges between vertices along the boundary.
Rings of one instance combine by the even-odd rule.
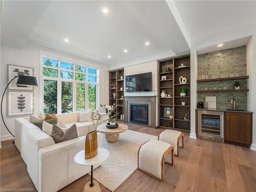
[[[182, 139], [182, 141], [181, 141]], [[184, 134], [175, 130], [164, 130], [158, 140], [169, 143], [174, 147], [174, 155], [179, 157], [179, 146], [184, 148]]]

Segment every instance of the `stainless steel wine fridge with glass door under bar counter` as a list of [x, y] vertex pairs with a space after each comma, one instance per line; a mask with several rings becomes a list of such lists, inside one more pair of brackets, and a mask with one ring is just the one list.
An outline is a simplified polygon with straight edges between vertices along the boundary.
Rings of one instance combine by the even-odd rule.
[[224, 112], [199, 110], [198, 138], [224, 143]]

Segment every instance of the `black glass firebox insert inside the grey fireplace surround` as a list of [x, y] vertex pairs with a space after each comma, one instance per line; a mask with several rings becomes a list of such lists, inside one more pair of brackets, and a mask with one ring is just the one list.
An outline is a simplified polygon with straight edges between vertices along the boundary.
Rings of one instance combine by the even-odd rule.
[[148, 125], [148, 104], [130, 103], [130, 122]]

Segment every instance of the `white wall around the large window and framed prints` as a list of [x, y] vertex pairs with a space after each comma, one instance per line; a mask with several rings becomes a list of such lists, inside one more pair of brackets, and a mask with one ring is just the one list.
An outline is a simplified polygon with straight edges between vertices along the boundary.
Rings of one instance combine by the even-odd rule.
[[[97, 67], [99, 69], [99, 103], [108, 103], [108, 72], [107, 67], [97, 62], [93, 62], [90, 60], [82, 59], [73, 55], [69, 55], [66, 53], [58, 52], [55, 50], [51, 50], [45, 47], [37, 46], [34, 44], [27, 44], [22, 50], [1, 46], [1, 97], [4, 92], [4, 89], [7, 84], [7, 64], [17, 65], [17, 66], [25, 66], [34, 68], [34, 76], [37, 78], [37, 82], [39, 83], [39, 73], [40, 72], [40, 51], [52, 53], [55, 55], [59, 55], [60, 57], [69, 58], [70, 60], [76, 60], [81, 63], [85, 63], [87, 66]], [[40, 97], [42, 95], [39, 94], [39, 87], [42, 86], [38, 84], [38, 87], [34, 88], [34, 114], [38, 115], [42, 109], [40, 109]], [[4, 97], [3, 104], [3, 115], [4, 119], [9, 127], [10, 131], [14, 133], [14, 119], [18, 117], [25, 116], [6, 116], [7, 114], [7, 94]], [[1, 140], [9, 139], [11, 135], [6, 130], [2, 120], [1, 120], [1, 129], [0, 129]]]

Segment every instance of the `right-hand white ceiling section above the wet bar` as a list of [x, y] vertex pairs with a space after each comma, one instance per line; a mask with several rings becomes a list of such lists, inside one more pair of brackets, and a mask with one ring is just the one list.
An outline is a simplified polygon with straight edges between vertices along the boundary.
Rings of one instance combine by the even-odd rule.
[[175, 1], [175, 5], [193, 40], [256, 24], [256, 1]]

